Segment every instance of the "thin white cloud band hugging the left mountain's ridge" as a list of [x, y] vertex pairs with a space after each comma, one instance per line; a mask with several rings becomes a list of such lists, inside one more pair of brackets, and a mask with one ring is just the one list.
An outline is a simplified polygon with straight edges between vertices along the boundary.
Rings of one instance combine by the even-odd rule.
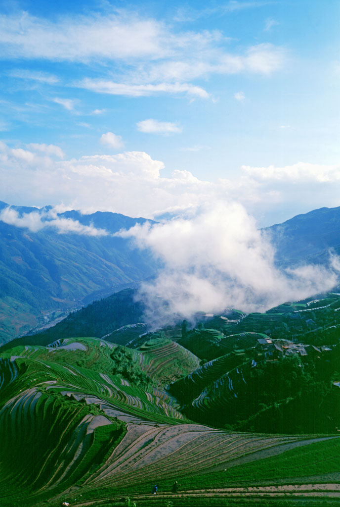
[[53, 210], [42, 212], [37, 210], [19, 214], [16, 209], [7, 207], [0, 212], [0, 221], [23, 229], [29, 229], [32, 232], [53, 227], [57, 229], [59, 234], [73, 233], [95, 237], [108, 235], [105, 229], [96, 229], [92, 225], [82, 225], [78, 220], [58, 216]]

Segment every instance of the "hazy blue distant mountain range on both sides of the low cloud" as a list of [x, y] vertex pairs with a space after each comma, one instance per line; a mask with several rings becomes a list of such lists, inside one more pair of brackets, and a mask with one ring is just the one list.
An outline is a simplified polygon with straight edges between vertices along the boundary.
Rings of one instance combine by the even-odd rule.
[[[0, 201], [0, 213], [6, 208]], [[1, 221], [0, 214], [0, 345], [157, 271], [149, 252], [112, 236], [146, 219], [99, 211], [51, 214], [51, 206], [11, 210], [12, 222]], [[32, 232], [23, 220], [27, 215], [41, 217], [44, 227]], [[340, 253], [340, 207], [297, 215], [264, 231], [276, 248], [277, 265], [326, 264], [329, 250]]]

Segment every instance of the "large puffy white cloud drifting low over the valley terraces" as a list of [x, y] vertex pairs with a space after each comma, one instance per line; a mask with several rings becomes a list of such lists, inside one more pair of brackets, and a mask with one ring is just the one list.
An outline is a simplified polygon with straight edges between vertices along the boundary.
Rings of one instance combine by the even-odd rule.
[[327, 291], [338, 282], [334, 262], [328, 269], [278, 270], [268, 238], [237, 203], [205, 205], [193, 218], [137, 225], [118, 235], [150, 249], [163, 265], [156, 280], [143, 283], [140, 290], [150, 317], [158, 307], [166, 315], [185, 318], [226, 308], [264, 311]]

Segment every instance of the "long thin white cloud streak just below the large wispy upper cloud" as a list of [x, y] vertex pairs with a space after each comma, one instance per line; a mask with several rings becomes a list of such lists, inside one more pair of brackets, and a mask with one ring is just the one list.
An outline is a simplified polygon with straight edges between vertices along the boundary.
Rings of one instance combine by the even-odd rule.
[[125, 95], [129, 97], [144, 97], [162, 93], [186, 93], [188, 95], [207, 98], [208, 93], [199, 86], [186, 83], [158, 83], [135, 85], [129, 83], [115, 83], [86, 78], [75, 86], [85, 88], [97, 93], [108, 93], [110, 95]]

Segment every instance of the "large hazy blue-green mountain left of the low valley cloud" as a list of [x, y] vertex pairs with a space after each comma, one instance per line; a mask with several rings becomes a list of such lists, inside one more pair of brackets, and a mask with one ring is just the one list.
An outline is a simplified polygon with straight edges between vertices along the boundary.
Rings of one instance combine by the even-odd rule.
[[[0, 209], [6, 207], [0, 202]], [[143, 224], [145, 219], [66, 211], [56, 215], [64, 227], [61, 232], [53, 226], [51, 207], [11, 209], [16, 212], [15, 223], [30, 216], [35, 222], [43, 220], [44, 227], [32, 232], [22, 227], [23, 223], [17, 227], [0, 221], [0, 344], [155, 272], [154, 260], [147, 252], [112, 236], [122, 228]], [[80, 233], [72, 232], [74, 224]], [[66, 228], [70, 232], [65, 232]], [[89, 235], [94, 229], [107, 234]]]

